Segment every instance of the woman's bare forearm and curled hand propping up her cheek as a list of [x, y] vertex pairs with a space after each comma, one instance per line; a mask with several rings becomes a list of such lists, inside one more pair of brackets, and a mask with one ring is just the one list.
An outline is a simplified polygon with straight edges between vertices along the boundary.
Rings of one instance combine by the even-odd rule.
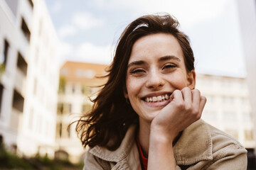
[[148, 169], [176, 169], [172, 143], [178, 132], [201, 118], [206, 97], [185, 87], [171, 94], [170, 103], [151, 122]]

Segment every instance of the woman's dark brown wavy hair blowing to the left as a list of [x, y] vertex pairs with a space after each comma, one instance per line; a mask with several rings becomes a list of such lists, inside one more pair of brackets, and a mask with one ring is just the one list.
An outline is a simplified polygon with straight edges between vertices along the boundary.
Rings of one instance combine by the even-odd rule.
[[183, 51], [187, 72], [194, 69], [193, 50], [187, 35], [178, 30], [179, 23], [168, 13], [146, 15], [130, 23], [117, 42], [114, 60], [107, 69], [107, 83], [102, 86], [89, 113], [82, 115], [76, 131], [82, 146], [96, 145], [115, 150], [121, 144], [127, 129], [139, 123], [139, 117], [124, 98], [127, 64], [134, 42], [146, 35], [170, 33]]

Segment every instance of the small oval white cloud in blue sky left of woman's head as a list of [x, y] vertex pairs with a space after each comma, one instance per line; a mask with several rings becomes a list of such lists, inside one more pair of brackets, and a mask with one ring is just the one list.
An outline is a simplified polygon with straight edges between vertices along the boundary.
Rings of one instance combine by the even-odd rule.
[[103, 25], [103, 21], [99, 18], [95, 18], [91, 13], [78, 12], [72, 18], [72, 23], [78, 26], [80, 30], [88, 30]]

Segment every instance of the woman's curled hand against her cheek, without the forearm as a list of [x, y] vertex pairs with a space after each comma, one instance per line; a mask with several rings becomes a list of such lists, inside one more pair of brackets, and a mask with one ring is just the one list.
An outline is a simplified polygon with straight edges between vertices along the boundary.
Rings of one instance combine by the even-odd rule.
[[151, 132], [164, 135], [169, 141], [174, 140], [178, 132], [201, 118], [206, 97], [201, 96], [198, 89], [185, 87], [181, 91], [174, 91], [170, 100], [151, 123]]

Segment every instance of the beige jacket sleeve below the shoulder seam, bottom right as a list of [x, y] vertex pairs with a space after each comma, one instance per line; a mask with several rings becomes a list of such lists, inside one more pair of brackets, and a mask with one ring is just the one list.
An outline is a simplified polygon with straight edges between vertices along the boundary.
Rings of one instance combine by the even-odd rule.
[[218, 155], [213, 159], [212, 164], [207, 168], [207, 170], [213, 169], [246, 170], [247, 150], [240, 145], [225, 147], [221, 152], [218, 152]]

